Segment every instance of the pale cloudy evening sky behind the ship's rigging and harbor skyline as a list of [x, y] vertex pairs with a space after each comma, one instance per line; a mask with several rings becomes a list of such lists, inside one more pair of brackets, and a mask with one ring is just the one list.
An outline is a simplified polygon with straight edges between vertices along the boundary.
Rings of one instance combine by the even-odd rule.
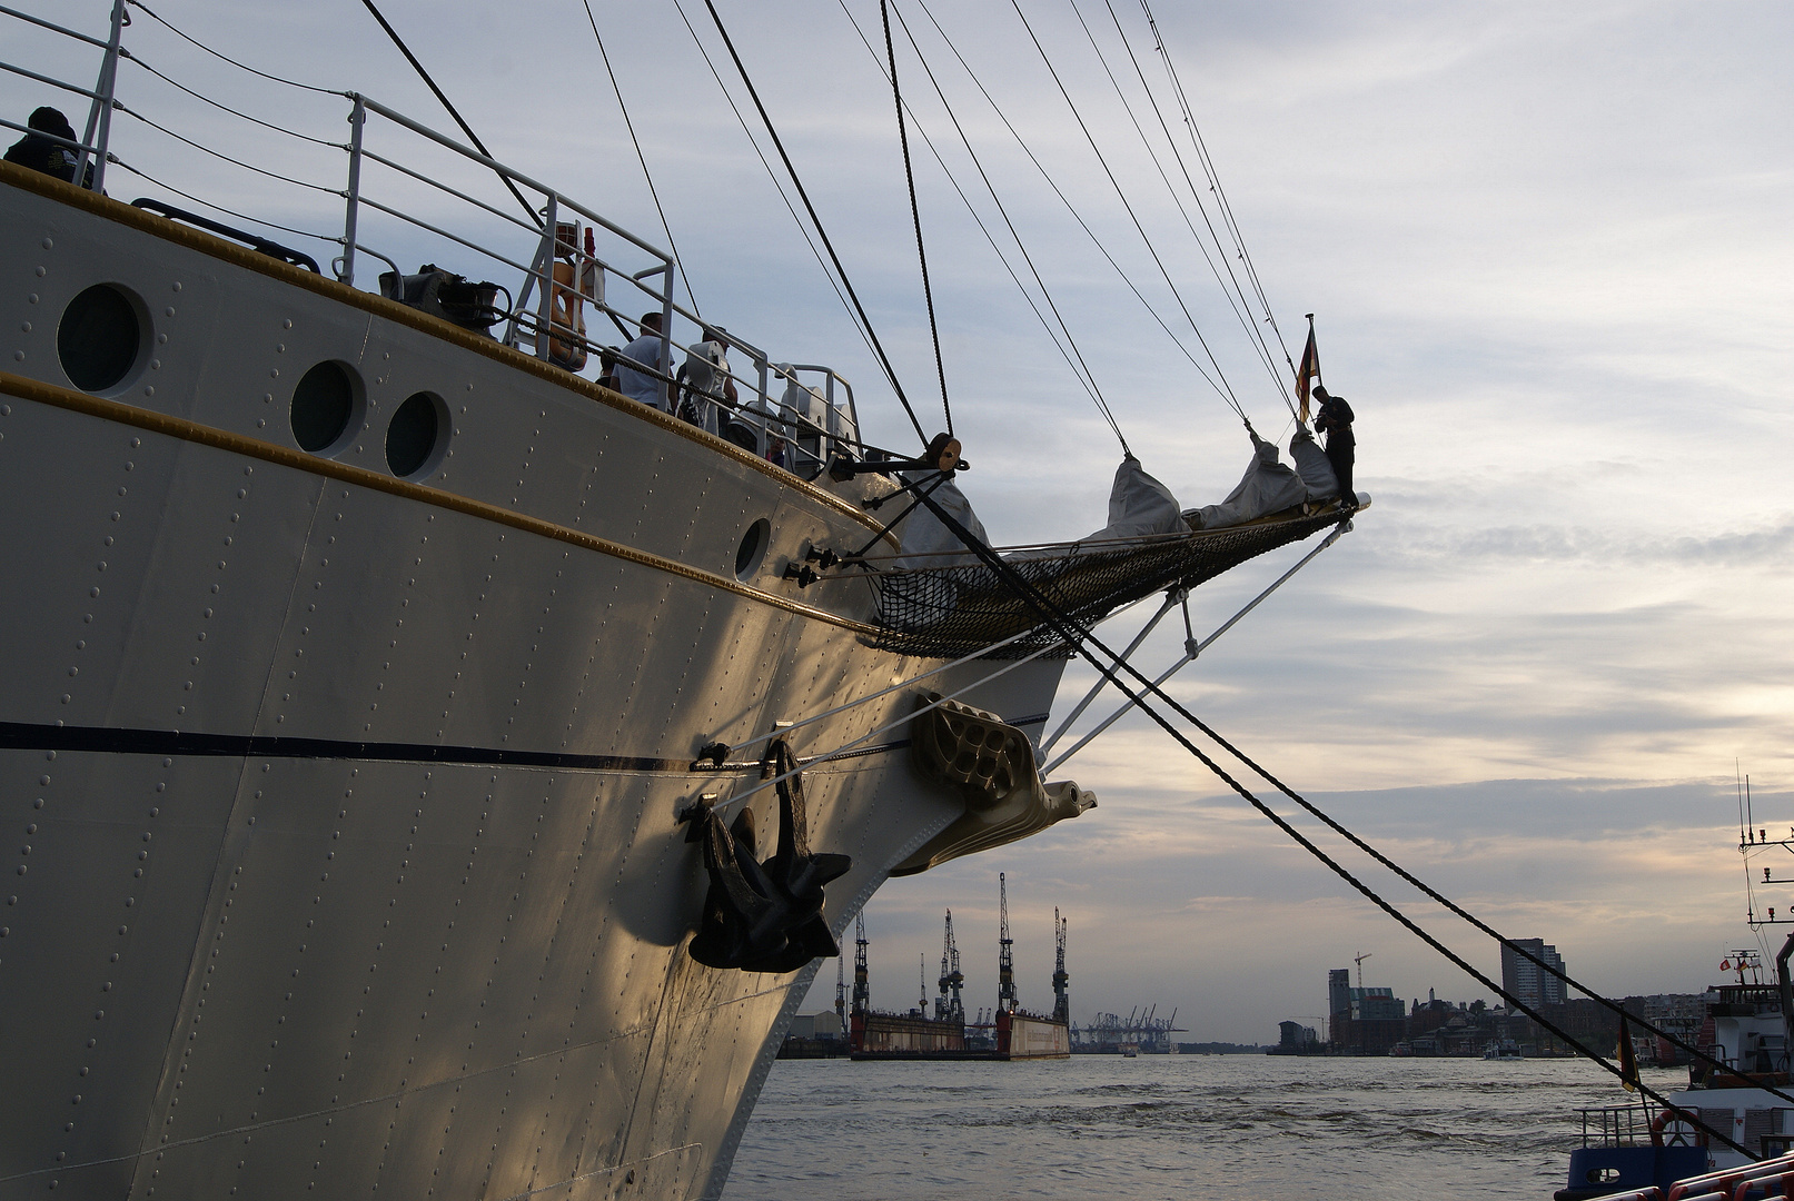
[[[703, 0], [682, 2], [759, 133]], [[883, 48], [877, 5], [716, 2], [924, 428], [942, 428], [895, 111], [854, 25]], [[104, 29], [106, 5], [91, 0], [27, 7]], [[596, 23], [701, 310], [775, 360], [838, 366], [868, 437], [913, 443], [671, 0], [594, 0], [590, 18], [581, 0], [380, 7], [501, 160], [664, 244]], [[920, 0], [899, 0], [895, 41], [954, 432], [974, 464], [965, 493], [999, 543], [1078, 536], [1103, 525], [1119, 445], [929, 151], [931, 140], [1026, 278], [927, 72], [1132, 450], [1186, 505], [1218, 500], [1250, 450], [1222, 393], [1267, 436], [1286, 441], [1290, 423], [1198, 251], [1191, 226], [1204, 219], [1116, 32], [1213, 206], [1137, 0], [1021, 7], [1060, 82], [1015, 7], [929, 7], [938, 27]], [[158, 0], [154, 11], [248, 66], [361, 90], [452, 129], [355, 0]], [[248, 75], [133, 13], [126, 45], [142, 63], [269, 124], [343, 138], [341, 97]], [[1356, 484], [1372, 497], [1351, 534], [1175, 676], [1173, 696], [1496, 929], [1554, 943], [1591, 988], [1703, 989], [1728, 950], [1758, 937], [1744, 923], [1737, 776], [1751, 776], [1758, 825], [1794, 823], [1794, 81], [1783, 61], [1794, 11], [1216, 2], [1159, 4], [1155, 16], [1292, 355], [1302, 314], [1315, 314], [1326, 382], [1358, 414]], [[34, 70], [97, 68], [38, 34], [14, 36], [34, 39]], [[115, 167], [113, 195], [178, 188], [300, 231], [339, 226], [328, 190], [343, 186], [341, 152], [248, 125], [135, 63], [120, 97], [325, 192], [120, 115], [115, 152], [154, 183]], [[9, 115], [39, 102], [38, 84], [0, 81]], [[422, 154], [391, 125], [368, 136]], [[771, 156], [764, 134], [761, 147]], [[440, 170], [492, 190], [447, 160]], [[400, 195], [389, 179], [380, 186]], [[493, 271], [379, 222], [364, 238], [405, 265]], [[1261, 314], [1247, 321], [1263, 324]], [[1200, 588], [1197, 633], [1299, 554]], [[1107, 629], [1110, 644], [1130, 622]], [[1173, 620], [1137, 663], [1157, 674], [1180, 642]], [[1073, 665], [1055, 712], [1093, 681]], [[999, 871], [1023, 1004], [1051, 1004], [1057, 905], [1078, 1020], [1155, 1004], [1161, 1016], [1177, 1009], [1188, 1040], [1270, 1041], [1277, 1020], [1320, 1015], [1326, 970], [1358, 954], [1363, 982], [1398, 997], [1494, 1000], [1139, 715], [1062, 771], [1096, 792], [1096, 810], [879, 891], [867, 909], [875, 1004], [913, 1004], [919, 955], [933, 979], [947, 907], [967, 1000], [994, 1002]], [[1293, 810], [1268, 787], [1259, 796]], [[1362, 855], [1344, 862], [1365, 869]], [[1365, 880], [1498, 975], [1493, 941], [1387, 873]], [[1794, 907], [1774, 889], [1756, 900], [1781, 902]], [[807, 1007], [832, 1002], [832, 975], [823, 968]]]

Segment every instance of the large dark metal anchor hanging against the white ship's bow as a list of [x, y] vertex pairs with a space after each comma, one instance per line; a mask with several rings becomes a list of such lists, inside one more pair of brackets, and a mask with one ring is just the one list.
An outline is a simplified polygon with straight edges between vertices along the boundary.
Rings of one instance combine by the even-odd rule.
[[709, 968], [782, 973], [841, 954], [822, 920], [822, 889], [845, 875], [852, 859], [809, 850], [804, 778], [784, 739], [766, 747], [761, 760], [761, 778], [773, 774], [789, 778], [777, 783], [779, 846], [764, 862], [753, 859], [750, 810], [741, 812], [734, 828], [701, 801], [682, 817], [694, 823], [687, 837], [703, 841], [710, 877], [703, 920], [687, 950]]

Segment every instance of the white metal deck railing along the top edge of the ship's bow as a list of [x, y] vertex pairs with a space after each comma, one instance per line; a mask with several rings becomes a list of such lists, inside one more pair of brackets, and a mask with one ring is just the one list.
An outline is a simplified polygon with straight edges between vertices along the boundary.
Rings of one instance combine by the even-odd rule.
[[[248, 152], [240, 158], [217, 152], [203, 140], [187, 138], [167, 124], [127, 108], [118, 100], [118, 65], [120, 61], [142, 65], [140, 56], [122, 45], [122, 32], [131, 27], [127, 9], [133, 2], [111, 0], [106, 38], [0, 5], [0, 16], [11, 18], [29, 30], [47, 32], [65, 43], [99, 52], [100, 65], [91, 88], [18, 63], [0, 61], [0, 70], [5, 73], [30, 81], [39, 88], [74, 93], [88, 100], [86, 127], [75, 140], [30, 131], [23, 124], [0, 117], [0, 125], [7, 129], [39, 133], [52, 143], [66, 145], [77, 154], [74, 174], [77, 183], [86, 181], [93, 190], [102, 190], [108, 163], [158, 183], [115, 154], [113, 113], [129, 113], [145, 125], [257, 172], [260, 177], [298, 185], [294, 190], [303, 188], [312, 204], [319, 204], [321, 197], [339, 197], [343, 233], [327, 235], [249, 217], [163, 185], [187, 199], [217, 208], [228, 217], [328, 244], [332, 247], [330, 269], [337, 280], [350, 287], [366, 287], [361, 281], [361, 276], [366, 274], [361, 262], [375, 258], [388, 269], [382, 272], [384, 283], [379, 290], [404, 299], [405, 271], [402, 264], [409, 253], [432, 253], [429, 247], [434, 246], [432, 256], [436, 258], [466, 256], [472, 265], [459, 262], [459, 269], [450, 269], [452, 274], [470, 280], [479, 280], [486, 272], [501, 280], [508, 274], [509, 285], [502, 281], [493, 285], [493, 296], [502, 290], [506, 305], [483, 314], [490, 315], [492, 321], [481, 317], [463, 321], [463, 324], [499, 326], [495, 337], [504, 344], [585, 378], [601, 378], [601, 373], [621, 359], [619, 348], [603, 346], [588, 335], [585, 330], [587, 315], [608, 323], [623, 342], [630, 342], [648, 332], [637, 314], [642, 310], [658, 312], [658, 366], [626, 359], [623, 362], [658, 384], [660, 409], [684, 412], [712, 434], [780, 462], [806, 479], [818, 475], [834, 454], [863, 450], [854, 391], [838, 371], [823, 364], [780, 362], [768, 350], [743, 339], [734, 330], [721, 337], [727, 337], [727, 350], [746, 360], [746, 367], [712, 371], [714, 382], [709, 389], [682, 382], [680, 373], [675, 371], [678, 355], [687, 355], [687, 362], [709, 362], [709, 348], [701, 342], [719, 337], [712, 332], [723, 326], [678, 303], [675, 298], [678, 264], [671, 253], [605, 219], [560, 188], [445, 136], [373, 97], [359, 91], [325, 93], [341, 95], [348, 102], [346, 142], [296, 133], [280, 122], [264, 122], [235, 108], [222, 109], [246, 122], [283, 129], [307, 142], [341, 151], [346, 160], [344, 176], [339, 176], [346, 179], [343, 186], [292, 179], [283, 172], [267, 170], [248, 161]], [[66, 20], [66, 7], [59, 7], [57, 14]], [[161, 22], [160, 16], [156, 20]], [[38, 57], [23, 38], [9, 41], [11, 57], [25, 57], [38, 65]], [[192, 91], [152, 66], [144, 65], [144, 68], [176, 88]], [[278, 77], [269, 75], [269, 79]], [[296, 84], [296, 81], [280, 82]], [[434, 156], [432, 161], [423, 161], [431, 156]], [[282, 167], [287, 168], [285, 161]], [[502, 203], [481, 199], [479, 188], [490, 186], [493, 179], [502, 181], [515, 197], [527, 197], [524, 204], [513, 206], [511, 197], [502, 197]], [[178, 210], [174, 219], [179, 219]], [[323, 212], [314, 213], [310, 220], [327, 226], [337, 224]], [[222, 228], [231, 229], [231, 226]], [[249, 238], [260, 238], [260, 235], [244, 237], [244, 240]], [[384, 249], [380, 249], [382, 242]], [[327, 256], [319, 255], [319, 258]], [[734, 405], [721, 398], [725, 378], [736, 385], [737, 402]]]

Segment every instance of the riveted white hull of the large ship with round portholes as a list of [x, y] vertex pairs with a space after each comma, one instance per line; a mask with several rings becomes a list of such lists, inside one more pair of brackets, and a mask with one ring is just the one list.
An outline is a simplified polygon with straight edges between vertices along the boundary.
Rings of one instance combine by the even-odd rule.
[[[705, 869], [678, 814], [757, 783], [692, 771], [703, 746], [927, 665], [867, 645], [870, 595], [782, 579], [872, 538], [859, 493], [380, 298], [0, 183], [0, 1197], [719, 1192], [814, 963], [685, 954]], [[57, 357], [95, 283], [147, 323], [99, 396]], [[361, 427], [309, 455], [287, 405], [325, 360]], [[407, 482], [382, 430], [416, 393], [452, 434]], [[1058, 669], [967, 699], [1032, 717]], [[852, 857], [836, 932], [963, 812], [901, 737], [806, 771], [813, 846]], [[771, 791], [746, 803], [775, 828]]]

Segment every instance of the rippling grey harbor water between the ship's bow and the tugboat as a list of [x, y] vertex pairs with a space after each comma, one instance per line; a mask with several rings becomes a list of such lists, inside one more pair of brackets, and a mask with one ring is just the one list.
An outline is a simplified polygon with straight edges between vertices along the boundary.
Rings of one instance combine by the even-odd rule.
[[1575, 1111], [1633, 1099], [1581, 1059], [780, 1059], [723, 1201], [1548, 1201]]

